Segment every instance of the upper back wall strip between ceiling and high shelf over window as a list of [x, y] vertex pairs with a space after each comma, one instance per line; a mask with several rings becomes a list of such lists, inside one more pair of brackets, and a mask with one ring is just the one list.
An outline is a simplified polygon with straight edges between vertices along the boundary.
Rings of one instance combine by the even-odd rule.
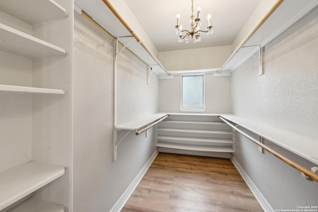
[[218, 69], [231, 55], [231, 46], [159, 52], [159, 61], [167, 71]]

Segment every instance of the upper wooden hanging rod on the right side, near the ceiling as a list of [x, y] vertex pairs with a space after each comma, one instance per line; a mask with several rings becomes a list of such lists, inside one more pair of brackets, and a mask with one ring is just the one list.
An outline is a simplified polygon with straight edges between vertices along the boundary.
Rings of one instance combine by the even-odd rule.
[[229, 59], [224, 63], [224, 65], [221, 67], [221, 69], [219, 69], [217, 71], [217, 73], [219, 71], [221, 71], [225, 65], [227, 65], [229, 63], [229, 61], [233, 58], [233, 56], [238, 53], [239, 49], [246, 43], [246, 41], [252, 37], [252, 35], [259, 29], [259, 27], [269, 18], [269, 16], [271, 16], [271, 14], [278, 8], [278, 6], [283, 3], [284, 0], [277, 0], [275, 2], [275, 4], [268, 10], [268, 12], [262, 17], [262, 19], [260, 19], [260, 21], [258, 21], [258, 23], [256, 24], [256, 26], [254, 26], [254, 28], [246, 35], [246, 37], [240, 42], [239, 46], [234, 50], [234, 52], [232, 53], [232, 55], [229, 57]]

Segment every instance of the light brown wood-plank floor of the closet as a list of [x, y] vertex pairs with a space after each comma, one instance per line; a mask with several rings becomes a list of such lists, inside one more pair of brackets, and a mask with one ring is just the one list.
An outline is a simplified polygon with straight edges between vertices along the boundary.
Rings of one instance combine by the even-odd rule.
[[263, 212], [230, 159], [159, 153], [121, 212]]

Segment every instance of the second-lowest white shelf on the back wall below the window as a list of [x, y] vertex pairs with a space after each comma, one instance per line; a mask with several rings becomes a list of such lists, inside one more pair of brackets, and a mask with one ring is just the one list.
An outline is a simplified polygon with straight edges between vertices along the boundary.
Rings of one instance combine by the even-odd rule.
[[207, 138], [192, 138], [192, 137], [180, 137], [180, 136], [157, 136], [158, 141], [167, 141], [167, 142], [182, 142], [192, 144], [202, 145], [224, 145], [224, 144], [234, 144], [234, 141], [231, 139], [207, 139]]

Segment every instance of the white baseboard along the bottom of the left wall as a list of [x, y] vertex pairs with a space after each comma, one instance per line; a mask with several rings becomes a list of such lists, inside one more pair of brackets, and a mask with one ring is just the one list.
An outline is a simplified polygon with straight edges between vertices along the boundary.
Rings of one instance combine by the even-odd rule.
[[131, 196], [131, 194], [134, 192], [134, 190], [136, 189], [136, 187], [138, 186], [139, 182], [141, 181], [141, 179], [144, 177], [144, 175], [146, 174], [147, 170], [149, 169], [150, 165], [153, 163], [153, 161], [155, 160], [156, 156], [158, 155], [158, 150], [156, 150], [154, 152], [154, 154], [149, 158], [149, 160], [147, 161], [147, 163], [144, 165], [144, 167], [140, 170], [140, 172], [138, 173], [138, 175], [135, 177], [135, 179], [133, 180], [133, 182], [128, 186], [128, 188], [126, 189], [126, 191], [123, 193], [123, 195], [119, 198], [119, 200], [116, 202], [116, 204], [113, 206], [113, 208], [109, 211], [109, 212], [120, 212], [124, 205], [126, 204], [126, 202], [128, 201], [129, 197]]

